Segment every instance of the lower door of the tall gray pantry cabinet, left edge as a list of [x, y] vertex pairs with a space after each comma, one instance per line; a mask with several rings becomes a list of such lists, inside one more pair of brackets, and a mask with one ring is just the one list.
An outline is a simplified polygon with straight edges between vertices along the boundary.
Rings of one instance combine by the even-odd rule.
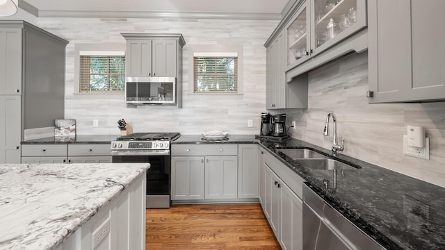
[[20, 163], [22, 97], [0, 95], [0, 163]]

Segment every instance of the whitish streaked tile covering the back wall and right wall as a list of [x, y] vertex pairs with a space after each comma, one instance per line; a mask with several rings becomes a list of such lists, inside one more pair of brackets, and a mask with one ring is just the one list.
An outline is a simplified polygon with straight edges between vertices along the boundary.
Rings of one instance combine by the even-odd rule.
[[[118, 134], [124, 118], [133, 131], [179, 131], [197, 134], [220, 129], [232, 134], [257, 134], [266, 102], [266, 42], [277, 21], [216, 19], [97, 19], [39, 18], [38, 26], [59, 35], [67, 45], [65, 118], [76, 119], [78, 134]], [[127, 108], [124, 97], [103, 95], [90, 99], [74, 92], [74, 45], [124, 43], [120, 33], [182, 33], [186, 40], [183, 69], [183, 106]], [[243, 45], [244, 94], [222, 96], [189, 94], [188, 45]], [[323, 136], [327, 113], [334, 112], [342, 153], [445, 187], [445, 102], [368, 104], [367, 52], [352, 54], [315, 69], [309, 74], [309, 108], [273, 110], [287, 113], [288, 126], [296, 120], [293, 137], [330, 149], [332, 135]], [[92, 127], [99, 119], [99, 128]], [[253, 128], [247, 120], [253, 119]], [[404, 156], [406, 125], [426, 128], [430, 160]], [[331, 122], [332, 126], [332, 122]]]

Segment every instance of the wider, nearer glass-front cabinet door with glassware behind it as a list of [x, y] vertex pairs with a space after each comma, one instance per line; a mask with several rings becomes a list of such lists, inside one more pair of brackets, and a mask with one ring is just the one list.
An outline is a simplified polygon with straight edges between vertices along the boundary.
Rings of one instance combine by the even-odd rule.
[[312, 14], [315, 54], [366, 26], [366, 0], [312, 0]]

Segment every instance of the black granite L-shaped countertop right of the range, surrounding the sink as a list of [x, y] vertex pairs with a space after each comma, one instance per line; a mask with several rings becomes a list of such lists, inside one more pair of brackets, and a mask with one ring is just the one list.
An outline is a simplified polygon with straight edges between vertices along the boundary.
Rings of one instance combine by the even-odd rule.
[[[182, 135], [173, 143], [214, 142], [201, 140], [201, 135]], [[329, 156], [331, 151], [293, 138], [277, 143], [255, 140], [254, 135], [229, 135], [223, 143], [261, 144], [387, 249], [445, 249], [445, 188], [342, 154], [334, 159], [361, 168], [337, 170], [335, 175], [334, 170], [309, 169], [277, 149], [308, 148]], [[327, 188], [324, 180], [329, 180]]]

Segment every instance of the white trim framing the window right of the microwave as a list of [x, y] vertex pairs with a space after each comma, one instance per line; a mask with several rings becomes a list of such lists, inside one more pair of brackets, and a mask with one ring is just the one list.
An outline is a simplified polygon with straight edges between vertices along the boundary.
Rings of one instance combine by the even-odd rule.
[[[205, 96], [205, 95], [239, 95], [243, 94], [243, 45], [242, 44], [191, 44], [188, 45], [189, 55], [188, 55], [188, 94], [193, 94], [197, 96]], [[229, 54], [238, 54], [238, 92], [220, 92], [220, 93], [195, 93], [195, 76], [194, 76], [194, 56], [197, 54], [205, 54], [205, 55], [229, 55]]]

